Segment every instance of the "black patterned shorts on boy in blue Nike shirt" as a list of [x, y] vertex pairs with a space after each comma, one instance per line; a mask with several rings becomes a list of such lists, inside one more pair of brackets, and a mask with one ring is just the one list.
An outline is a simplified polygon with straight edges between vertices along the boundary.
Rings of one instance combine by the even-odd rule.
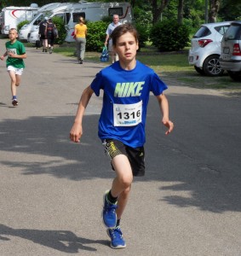
[[[128, 157], [133, 176], [145, 175], [145, 150], [144, 147], [131, 148], [118, 140], [106, 139], [103, 141], [105, 153], [112, 160], [118, 154]], [[112, 169], [114, 170], [113, 166]]]

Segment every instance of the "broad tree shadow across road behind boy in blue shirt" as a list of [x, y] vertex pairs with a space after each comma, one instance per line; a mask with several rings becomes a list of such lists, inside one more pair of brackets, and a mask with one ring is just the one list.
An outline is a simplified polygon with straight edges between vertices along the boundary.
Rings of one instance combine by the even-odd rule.
[[[158, 103], [150, 99], [146, 177], [136, 182], [160, 181], [160, 200], [178, 207], [241, 212], [241, 117], [233, 114], [240, 110], [241, 103], [233, 98], [202, 95], [173, 95], [169, 103], [175, 131], [166, 137], [157, 121]], [[98, 119], [95, 114], [84, 117], [81, 144], [69, 141], [70, 116], [3, 120], [1, 150], [31, 157], [3, 160], [2, 165], [19, 167], [24, 175], [49, 174], [72, 180], [110, 177], [111, 166], [97, 137]], [[162, 195], [165, 190], [175, 195]], [[183, 191], [190, 197], [182, 196]]]

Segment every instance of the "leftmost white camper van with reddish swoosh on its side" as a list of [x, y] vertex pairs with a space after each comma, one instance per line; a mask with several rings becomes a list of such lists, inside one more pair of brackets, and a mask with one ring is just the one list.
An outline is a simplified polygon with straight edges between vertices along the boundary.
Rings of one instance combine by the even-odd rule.
[[9, 6], [2, 9], [1, 32], [8, 35], [10, 28], [17, 28], [23, 20], [32, 20], [38, 10], [37, 3], [32, 3], [30, 7]]

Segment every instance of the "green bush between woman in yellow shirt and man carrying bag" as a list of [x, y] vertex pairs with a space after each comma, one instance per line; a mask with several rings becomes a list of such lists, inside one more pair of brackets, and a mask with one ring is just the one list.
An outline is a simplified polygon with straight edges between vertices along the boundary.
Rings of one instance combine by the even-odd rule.
[[108, 24], [105, 21], [88, 22], [86, 50], [100, 52], [103, 49]]

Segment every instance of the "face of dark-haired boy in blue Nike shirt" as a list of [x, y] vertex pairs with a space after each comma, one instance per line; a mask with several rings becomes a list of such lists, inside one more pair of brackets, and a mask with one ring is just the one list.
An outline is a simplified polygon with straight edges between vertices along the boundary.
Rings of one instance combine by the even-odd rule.
[[117, 40], [117, 44], [113, 49], [118, 54], [120, 61], [133, 61], [135, 59], [136, 51], [139, 49], [138, 43], [132, 33], [126, 32]]

